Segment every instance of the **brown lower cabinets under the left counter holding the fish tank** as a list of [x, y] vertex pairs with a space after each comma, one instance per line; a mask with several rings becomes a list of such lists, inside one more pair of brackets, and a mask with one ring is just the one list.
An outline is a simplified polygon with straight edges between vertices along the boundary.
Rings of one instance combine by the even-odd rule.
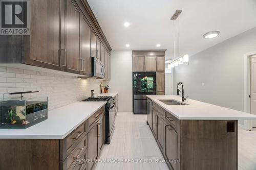
[[0, 139], [0, 169], [92, 169], [104, 142], [105, 106], [64, 139]]

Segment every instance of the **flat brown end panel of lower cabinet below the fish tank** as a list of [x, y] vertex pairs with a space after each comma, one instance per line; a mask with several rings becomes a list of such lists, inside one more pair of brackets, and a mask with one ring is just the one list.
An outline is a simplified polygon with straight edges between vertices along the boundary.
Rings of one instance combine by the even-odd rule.
[[0, 139], [0, 169], [59, 168], [57, 139]]

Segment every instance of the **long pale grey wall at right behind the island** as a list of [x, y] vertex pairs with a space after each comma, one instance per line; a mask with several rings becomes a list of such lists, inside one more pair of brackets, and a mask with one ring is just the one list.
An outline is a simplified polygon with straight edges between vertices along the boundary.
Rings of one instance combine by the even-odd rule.
[[190, 99], [243, 111], [243, 55], [253, 51], [256, 28], [190, 56], [175, 68], [175, 84], [183, 82]]

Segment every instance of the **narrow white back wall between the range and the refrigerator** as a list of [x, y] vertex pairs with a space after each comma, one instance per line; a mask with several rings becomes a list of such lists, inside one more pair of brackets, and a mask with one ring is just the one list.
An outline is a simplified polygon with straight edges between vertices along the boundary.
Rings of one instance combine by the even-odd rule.
[[133, 58], [131, 50], [111, 52], [110, 92], [118, 92], [118, 112], [133, 111]]

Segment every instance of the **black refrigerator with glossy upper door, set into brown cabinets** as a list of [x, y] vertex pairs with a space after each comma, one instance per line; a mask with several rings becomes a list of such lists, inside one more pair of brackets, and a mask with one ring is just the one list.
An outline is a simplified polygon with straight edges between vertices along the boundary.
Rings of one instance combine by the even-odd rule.
[[156, 95], [156, 72], [133, 72], [134, 114], [146, 114], [146, 95]]

